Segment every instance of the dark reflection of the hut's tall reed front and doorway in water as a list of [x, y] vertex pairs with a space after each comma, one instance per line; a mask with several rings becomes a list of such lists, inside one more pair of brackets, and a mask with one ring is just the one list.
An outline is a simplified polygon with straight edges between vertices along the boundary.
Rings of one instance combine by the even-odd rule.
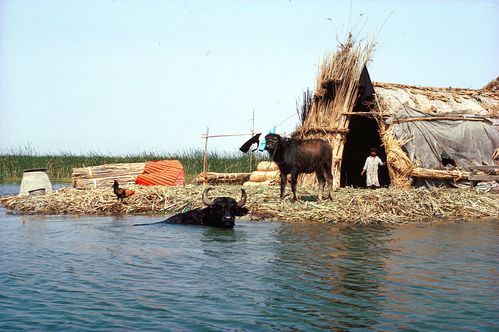
[[[293, 225], [293, 235], [288, 230], [276, 234], [285, 246], [280, 247], [279, 258], [273, 272], [285, 273], [285, 278], [298, 281], [299, 287], [280, 292], [284, 297], [278, 302], [288, 308], [289, 303], [299, 308], [306, 303], [320, 300], [323, 308], [301, 311], [306, 315], [321, 313], [329, 328], [368, 328], [377, 322], [384, 297], [376, 290], [381, 287], [384, 275], [384, 257], [389, 250], [384, 243], [390, 227], [383, 225], [309, 227]], [[297, 242], [299, 241], [299, 242]], [[292, 270], [282, 265], [293, 264]], [[314, 287], [304, 287], [315, 280]], [[289, 295], [293, 297], [290, 299]], [[327, 317], [327, 319], [326, 319]]]

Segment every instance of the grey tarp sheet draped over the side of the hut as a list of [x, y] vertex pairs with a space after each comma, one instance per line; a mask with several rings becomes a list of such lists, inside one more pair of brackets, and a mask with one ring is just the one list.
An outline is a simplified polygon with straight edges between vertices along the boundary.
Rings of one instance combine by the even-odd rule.
[[[423, 120], [400, 122], [394, 120], [414, 118], [449, 118], [449, 120]], [[454, 119], [454, 120], [451, 120]], [[459, 119], [459, 120], [457, 120]], [[470, 119], [470, 120], [467, 120]], [[476, 121], [471, 119], [484, 119]], [[469, 165], [494, 165], [492, 154], [499, 147], [499, 129], [489, 119], [473, 114], [471, 110], [439, 114], [424, 112], [401, 105], [387, 124], [392, 125], [395, 136], [411, 139], [403, 147], [411, 162], [421, 168], [469, 171]], [[456, 166], [443, 165], [443, 159], [455, 161]], [[468, 187], [468, 180], [438, 180], [413, 178], [413, 186], [433, 188]]]

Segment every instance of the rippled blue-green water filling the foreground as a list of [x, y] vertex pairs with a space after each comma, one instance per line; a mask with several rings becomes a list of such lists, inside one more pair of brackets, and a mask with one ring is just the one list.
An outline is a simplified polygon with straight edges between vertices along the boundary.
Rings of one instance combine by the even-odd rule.
[[0, 211], [0, 330], [499, 330], [499, 221], [233, 230]]

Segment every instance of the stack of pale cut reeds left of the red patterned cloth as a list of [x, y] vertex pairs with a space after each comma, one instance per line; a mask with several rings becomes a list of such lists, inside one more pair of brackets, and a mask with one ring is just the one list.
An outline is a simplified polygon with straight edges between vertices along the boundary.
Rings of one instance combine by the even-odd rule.
[[107, 187], [117, 180], [120, 185], [135, 183], [146, 163], [106, 164], [91, 167], [73, 168], [74, 188]]

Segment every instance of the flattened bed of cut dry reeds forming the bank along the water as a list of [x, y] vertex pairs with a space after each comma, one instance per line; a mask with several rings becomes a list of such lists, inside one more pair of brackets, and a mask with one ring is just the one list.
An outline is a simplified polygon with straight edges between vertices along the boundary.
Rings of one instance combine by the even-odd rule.
[[[8, 209], [29, 213], [127, 214], [147, 212], [179, 212], [185, 208], [204, 207], [201, 194], [204, 186], [142, 186], [128, 185], [135, 195], [118, 202], [112, 188], [78, 190], [61, 188], [43, 196], [0, 196]], [[291, 195], [278, 199], [275, 186], [217, 186], [212, 197], [241, 197], [241, 188], [248, 193], [246, 207], [253, 220], [275, 218], [282, 221], [401, 223], [433, 218], [471, 219], [499, 215], [499, 197], [492, 191], [470, 189], [353, 189], [338, 188], [333, 200], [317, 202], [313, 188], [298, 187], [301, 202], [292, 202]]]

